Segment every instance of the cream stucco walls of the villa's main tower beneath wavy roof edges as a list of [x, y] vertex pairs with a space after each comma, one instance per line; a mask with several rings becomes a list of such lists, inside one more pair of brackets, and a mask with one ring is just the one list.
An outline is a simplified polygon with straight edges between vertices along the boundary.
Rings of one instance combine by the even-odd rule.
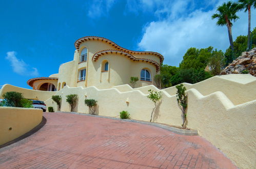
[[[87, 61], [79, 62], [81, 51], [86, 48], [88, 51]], [[118, 85], [129, 83], [131, 76], [140, 78], [141, 70], [146, 68], [150, 71], [152, 81], [138, 81], [136, 87], [154, 85], [153, 77], [156, 74], [156, 67], [146, 61], [132, 61], [121, 54], [105, 54], [96, 61], [92, 56], [102, 50], [117, 50], [115, 47], [102, 40], [84, 41], [80, 45], [79, 51], [75, 51], [74, 60], [62, 64], [58, 72], [58, 84], [66, 82], [69, 87], [90, 87], [95, 86], [99, 89], [107, 89]], [[149, 58], [159, 62], [160, 58], [150, 53], [134, 54], [140, 58]], [[102, 62], [109, 62], [109, 71], [102, 72]], [[86, 69], [86, 79], [78, 81], [80, 70]], [[57, 87], [57, 89], [62, 89]]]

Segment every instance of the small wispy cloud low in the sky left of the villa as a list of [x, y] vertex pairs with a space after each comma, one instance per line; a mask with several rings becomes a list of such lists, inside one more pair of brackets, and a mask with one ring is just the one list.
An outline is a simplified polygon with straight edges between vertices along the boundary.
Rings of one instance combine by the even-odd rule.
[[28, 65], [21, 59], [16, 57], [16, 52], [11, 51], [6, 53], [6, 59], [11, 62], [11, 67], [13, 71], [19, 75], [29, 75], [29, 76], [38, 76], [39, 73], [36, 68], [31, 68], [28, 70]]

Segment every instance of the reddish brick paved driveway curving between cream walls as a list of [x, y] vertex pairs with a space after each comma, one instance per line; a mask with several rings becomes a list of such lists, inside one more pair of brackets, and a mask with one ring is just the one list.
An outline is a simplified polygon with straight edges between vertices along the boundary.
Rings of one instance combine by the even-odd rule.
[[38, 132], [0, 149], [0, 168], [235, 168], [200, 136], [96, 116], [44, 116]]

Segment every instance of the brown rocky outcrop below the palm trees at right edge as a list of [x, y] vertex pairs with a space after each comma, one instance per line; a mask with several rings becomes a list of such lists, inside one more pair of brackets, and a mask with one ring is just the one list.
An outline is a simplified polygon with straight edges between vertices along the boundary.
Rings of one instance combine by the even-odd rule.
[[251, 75], [256, 77], [256, 48], [248, 52], [243, 52], [242, 55], [233, 60], [221, 74], [239, 74], [244, 70], [247, 70]]

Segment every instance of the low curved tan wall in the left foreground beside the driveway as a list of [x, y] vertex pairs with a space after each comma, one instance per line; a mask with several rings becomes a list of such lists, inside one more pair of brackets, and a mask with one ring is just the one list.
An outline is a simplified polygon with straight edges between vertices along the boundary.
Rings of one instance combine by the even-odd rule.
[[41, 109], [0, 107], [0, 145], [18, 138], [40, 124]]

